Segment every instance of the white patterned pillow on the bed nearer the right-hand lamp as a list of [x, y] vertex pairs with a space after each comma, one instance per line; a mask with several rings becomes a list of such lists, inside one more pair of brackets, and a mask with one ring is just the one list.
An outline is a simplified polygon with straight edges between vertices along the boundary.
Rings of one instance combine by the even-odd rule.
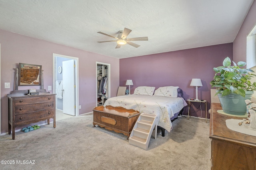
[[164, 96], [169, 98], [178, 97], [178, 86], [165, 86], [156, 89], [153, 96]]

